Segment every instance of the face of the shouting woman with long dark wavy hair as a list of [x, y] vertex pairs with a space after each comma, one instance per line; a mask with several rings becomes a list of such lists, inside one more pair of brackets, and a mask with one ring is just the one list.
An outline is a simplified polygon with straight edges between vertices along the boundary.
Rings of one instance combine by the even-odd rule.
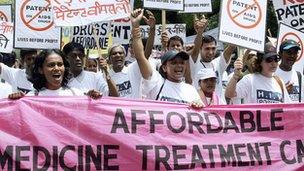
[[59, 89], [64, 77], [64, 71], [65, 67], [60, 55], [52, 53], [47, 56], [41, 70], [41, 74], [45, 76], [47, 82], [45, 87], [51, 90]]

